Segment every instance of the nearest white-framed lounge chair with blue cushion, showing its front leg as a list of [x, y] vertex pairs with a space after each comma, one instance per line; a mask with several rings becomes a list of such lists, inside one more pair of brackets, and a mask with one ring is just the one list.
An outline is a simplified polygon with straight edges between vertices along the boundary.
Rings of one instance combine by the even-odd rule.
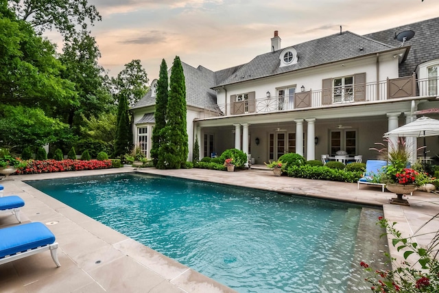
[[40, 222], [0, 229], [0, 265], [29, 255], [50, 250], [56, 266], [60, 267], [55, 235]]

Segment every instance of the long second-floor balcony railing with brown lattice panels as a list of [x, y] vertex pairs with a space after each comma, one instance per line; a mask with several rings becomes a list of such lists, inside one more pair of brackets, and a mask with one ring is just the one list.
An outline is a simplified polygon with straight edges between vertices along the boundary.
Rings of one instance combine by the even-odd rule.
[[337, 104], [384, 101], [403, 97], [438, 96], [438, 79], [416, 80], [415, 75], [382, 82], [338, 86], [332, 89], [298, 92], [294, 95], [246, 99], [204, 108], [205, 117], [232, 116], [248, 113], [273, 113], [310, 109]]

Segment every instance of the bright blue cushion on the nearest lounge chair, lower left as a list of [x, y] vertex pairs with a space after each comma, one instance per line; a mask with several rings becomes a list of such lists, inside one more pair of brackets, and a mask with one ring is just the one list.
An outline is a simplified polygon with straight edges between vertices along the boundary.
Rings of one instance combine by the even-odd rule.
[[55, 242], [45, 224], [34, 222], [0, 229], [0, 258]]

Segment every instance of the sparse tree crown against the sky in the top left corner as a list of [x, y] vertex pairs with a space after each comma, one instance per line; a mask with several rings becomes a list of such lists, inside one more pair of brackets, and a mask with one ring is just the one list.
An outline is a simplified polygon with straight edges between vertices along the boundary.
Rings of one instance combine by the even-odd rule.
[[54, 27], [64, 37], [78, 29], [86, 30], [87, 22], [93, 25], [102, 19], [95, 5], [88, 5], [87, 0], [8, 0], [8, 5], [37, 32]]

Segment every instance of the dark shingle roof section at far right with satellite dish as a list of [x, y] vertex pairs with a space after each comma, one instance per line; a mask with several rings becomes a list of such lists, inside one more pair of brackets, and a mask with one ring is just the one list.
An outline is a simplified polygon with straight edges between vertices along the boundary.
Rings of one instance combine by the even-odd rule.
[[405, 30], [412, 30], [415, 34], [411, 40], [404, 43], [412, 47], [407, 60], [399, 65], [399, 76], [412, 75], [420, 63], [439, 58], [439, 17], [365, 35], [382, 43], [399, 47], [401, 42], [396, 40], [395, 36]]

